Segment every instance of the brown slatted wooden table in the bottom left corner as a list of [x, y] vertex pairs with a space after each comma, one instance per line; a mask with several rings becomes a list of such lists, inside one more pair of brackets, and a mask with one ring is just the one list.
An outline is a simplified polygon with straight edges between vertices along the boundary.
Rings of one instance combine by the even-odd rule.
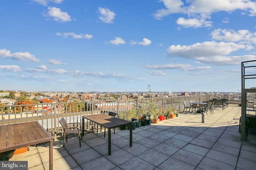
[[49, 169], [53, 169], [53, 138], [38, 121], [0, 126], [0, 153], [49, 142]]

